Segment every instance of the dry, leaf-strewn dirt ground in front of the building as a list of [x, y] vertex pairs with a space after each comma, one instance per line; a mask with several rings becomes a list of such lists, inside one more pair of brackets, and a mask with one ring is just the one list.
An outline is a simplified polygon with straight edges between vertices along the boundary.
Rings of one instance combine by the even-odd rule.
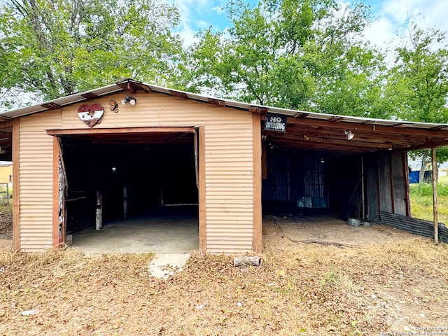
[[260, 267], [193, 251], [167, 280], [151, 253], [3, 249], [0, 335], [448, 335], [446, 244], [304, 214], [263, 231]]

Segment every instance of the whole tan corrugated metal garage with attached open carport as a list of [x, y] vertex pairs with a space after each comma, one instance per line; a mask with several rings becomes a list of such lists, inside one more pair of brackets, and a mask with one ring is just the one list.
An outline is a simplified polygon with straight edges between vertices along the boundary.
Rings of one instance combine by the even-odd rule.
[[130, 79], [1, 118], [16, 251], [63, 246], [67, 234], [76, 244], [83, 230], [99, 246], [108, 225], [134, 233], [135, 246], [152, 225], [191, 235], [183, 240], [203, 252], [259, 252], [269, 211], [409, 218], [407, 151], [448, 144], [448, 125], [254, 106]]

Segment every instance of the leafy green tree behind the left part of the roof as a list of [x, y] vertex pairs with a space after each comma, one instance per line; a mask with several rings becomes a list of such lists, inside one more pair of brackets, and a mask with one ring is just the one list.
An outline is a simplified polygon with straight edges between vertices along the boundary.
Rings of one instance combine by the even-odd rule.
[[165, 84], [181, 55], [178, 22], [160, 0], [3, 1], [1, 104], [8, 92], [48, 100], [130, 77]]

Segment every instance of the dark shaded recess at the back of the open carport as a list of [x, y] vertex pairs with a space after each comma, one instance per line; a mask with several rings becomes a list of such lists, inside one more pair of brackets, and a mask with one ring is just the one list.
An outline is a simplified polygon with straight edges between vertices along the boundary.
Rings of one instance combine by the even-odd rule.
[[269, 147], [264, 153], [263, 214], [342, 221], [367, 214], [362, 155]]

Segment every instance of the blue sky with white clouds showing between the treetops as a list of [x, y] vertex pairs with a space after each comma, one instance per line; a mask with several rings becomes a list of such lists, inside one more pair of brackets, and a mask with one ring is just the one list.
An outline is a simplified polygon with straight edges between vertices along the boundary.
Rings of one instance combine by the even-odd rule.
[[[188, 44], [193, 41], [193, 35], [200, 29], [214, 26], [223, 31], [229, 27], [223, 8], [228, 0], [173, 0], [181, 10], [181, 36]], [[247, 0], [255, 4], [257, 0]], [[342, 1], [340, 1], [342, 3]], [[349, 1], [345, 1], [349, 2]], [[384, 46], [391, 41], [397, 31], [405, 26], [409, 15], [418, 15], [421, 27], [435, 26], [442, 31], [448, 31], [448, 1], [447, 0], [363, 0], [372, 7], [377, 21], [365, 31], [365, 36], [372, 43]]]

